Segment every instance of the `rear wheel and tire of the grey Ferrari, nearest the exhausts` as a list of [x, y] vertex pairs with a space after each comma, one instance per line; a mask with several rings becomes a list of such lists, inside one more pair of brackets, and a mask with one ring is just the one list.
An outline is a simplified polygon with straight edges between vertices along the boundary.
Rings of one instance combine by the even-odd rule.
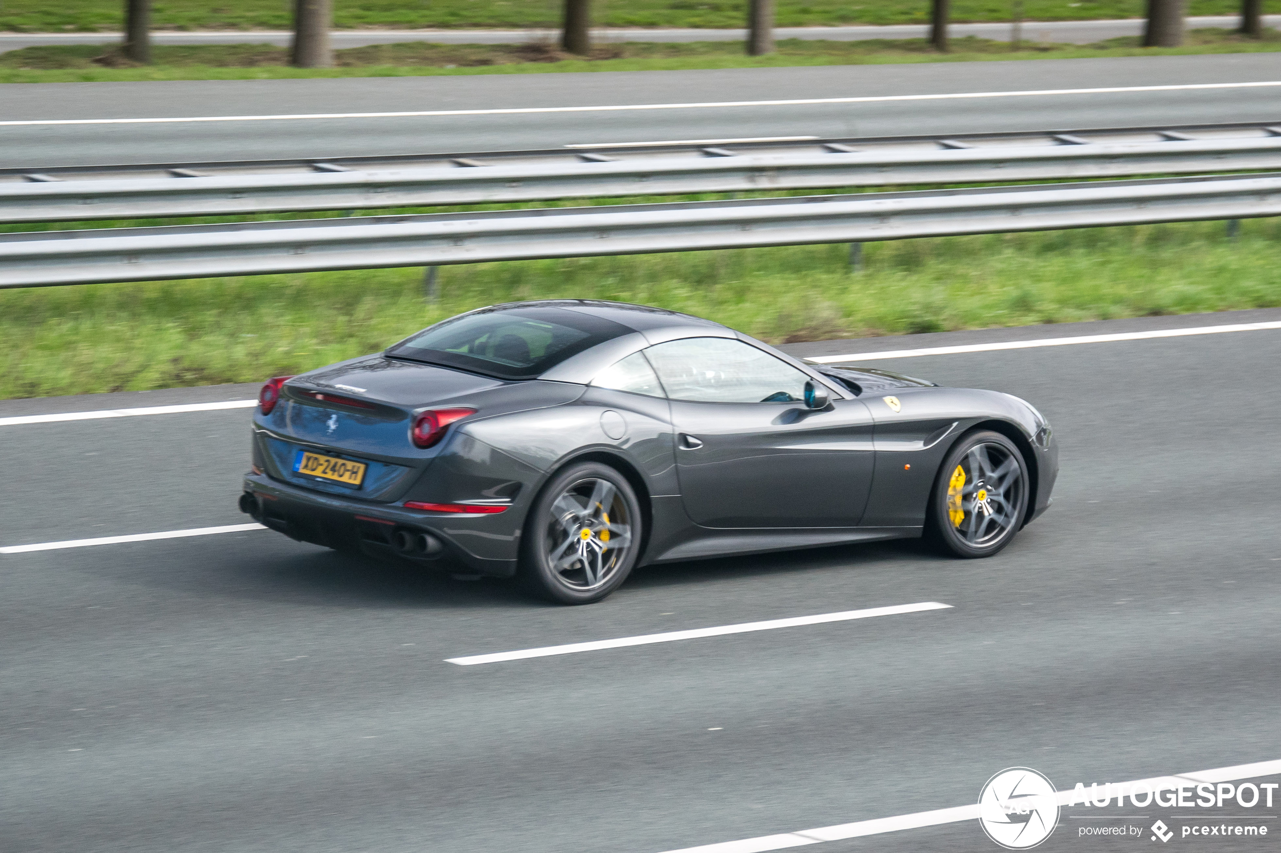
[[561, 605], [601, 601], [632, 574], [642, 524], [623, 474], [600, 462], [571, 465], [529, 508], [518, 575], [532, 593]]

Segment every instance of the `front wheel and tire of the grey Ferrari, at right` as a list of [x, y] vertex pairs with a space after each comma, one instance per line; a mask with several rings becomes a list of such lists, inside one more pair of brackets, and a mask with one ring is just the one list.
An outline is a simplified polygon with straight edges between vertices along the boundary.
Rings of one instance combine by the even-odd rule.
[[991, 430], [962, 435], [943, 459], [925, 515], [925, 538], [956, 557], [990, 557], [1008, 546], [1027, 514], [1027, 462]]

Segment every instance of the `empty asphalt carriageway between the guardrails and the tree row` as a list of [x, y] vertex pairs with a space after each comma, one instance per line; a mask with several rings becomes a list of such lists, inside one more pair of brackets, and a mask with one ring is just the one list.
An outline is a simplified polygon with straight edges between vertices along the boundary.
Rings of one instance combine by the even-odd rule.
[[[468, 152], [593, 142], [886, 136], [1281, 120], [1281, 87], [758, 104], [825, 97], [1187, 86], [1281, 79], [1281, 54], [582, 74], [36, 83], [0, 87], [0, 163], [42, 167]], [[496, 109], [724, 104], [689, 109]], [[482, 110], [360, 118], [334, 114]], [[126, 124], [68, 119], [325, 115]], [[4, 122], [37, 122], [12, 126]]]

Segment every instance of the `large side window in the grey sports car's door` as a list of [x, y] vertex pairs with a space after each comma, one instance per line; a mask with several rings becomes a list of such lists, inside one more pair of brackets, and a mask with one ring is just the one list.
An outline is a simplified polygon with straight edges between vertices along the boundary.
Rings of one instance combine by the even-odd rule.
[[810, 379], [733, 338], [685, 338], [646, 350], [667, 396], [693, 402], [794, 402]]

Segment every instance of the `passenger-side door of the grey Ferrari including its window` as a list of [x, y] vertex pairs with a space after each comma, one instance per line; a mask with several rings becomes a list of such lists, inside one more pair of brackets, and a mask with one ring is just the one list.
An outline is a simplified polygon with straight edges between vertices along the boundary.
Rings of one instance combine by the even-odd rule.
[[644, 351], [671, 401], [685, 511], [708, 528], [854, 526], [872, 479], [858, 400], [807, 409], [811, 377], [734, 338]]

